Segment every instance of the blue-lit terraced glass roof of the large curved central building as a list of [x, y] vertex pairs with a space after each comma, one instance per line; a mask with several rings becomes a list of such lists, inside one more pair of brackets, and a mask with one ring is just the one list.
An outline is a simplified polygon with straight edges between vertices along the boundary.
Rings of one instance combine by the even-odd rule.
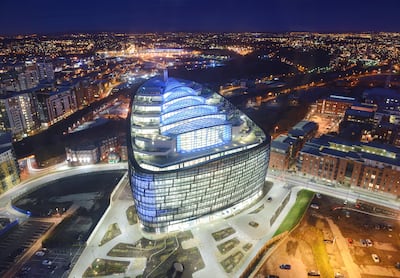
[[267, 139], [226, 99], [191, 81], [150, 79], [136, 92], [131, 111], [135, 160], [151, 170], [175, 169], [182, 161], [240, 151]]

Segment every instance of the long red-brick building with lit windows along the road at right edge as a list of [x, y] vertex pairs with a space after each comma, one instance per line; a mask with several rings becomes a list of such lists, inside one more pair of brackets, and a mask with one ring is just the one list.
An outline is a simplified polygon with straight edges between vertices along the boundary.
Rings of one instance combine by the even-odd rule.
[[323, 135], [301, 149], [298, 169], [328, 182], [400, 197], [400, 148], [390, 145]]

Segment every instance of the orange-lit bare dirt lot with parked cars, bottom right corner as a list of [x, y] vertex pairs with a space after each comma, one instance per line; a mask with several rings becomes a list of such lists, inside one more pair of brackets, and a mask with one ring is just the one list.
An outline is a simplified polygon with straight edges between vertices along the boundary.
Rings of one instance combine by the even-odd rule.
[[[400, 270], [394, 267], [400, 261], [399, 220], [352, 211], [384, 210], [360, 202], [344, 204], [343, 200], [321, 196], [314, 197], [312, 203], [319, 209], [308, 209], [256, 277], [307, 277], [310, 271], [329, 278], [335, 274], [351, 278], [400, 277]], [[400, 212], [386, 214], [398, 218]], [[372, 246], [363, 245], [365, 239], [370, 239]], [[374, 262], [372, 254], [377, 254], [380, 262]], [[280, 269], [281, 264], [290, 264], [291, 269]]]

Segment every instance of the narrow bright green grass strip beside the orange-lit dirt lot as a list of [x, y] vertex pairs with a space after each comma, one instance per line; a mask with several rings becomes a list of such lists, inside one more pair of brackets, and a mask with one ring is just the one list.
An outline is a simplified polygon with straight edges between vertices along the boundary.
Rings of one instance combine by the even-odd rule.
[[286, 218], [283, 220], [278, 230], [276, 230], [274, 236], [292, 230], [293, 227], [299, 223], [313, 196], [314, 192], [309, 190], [300, 190], [297, 193], [296, 203], [293, 205], [288, 215], [286, 215]]

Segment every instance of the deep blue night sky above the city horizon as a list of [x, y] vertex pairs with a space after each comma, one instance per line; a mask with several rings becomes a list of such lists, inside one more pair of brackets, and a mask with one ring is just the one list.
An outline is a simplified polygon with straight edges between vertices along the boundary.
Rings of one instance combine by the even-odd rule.
[[0, 0], [0, 35], [400, 31], [399, 0]]

